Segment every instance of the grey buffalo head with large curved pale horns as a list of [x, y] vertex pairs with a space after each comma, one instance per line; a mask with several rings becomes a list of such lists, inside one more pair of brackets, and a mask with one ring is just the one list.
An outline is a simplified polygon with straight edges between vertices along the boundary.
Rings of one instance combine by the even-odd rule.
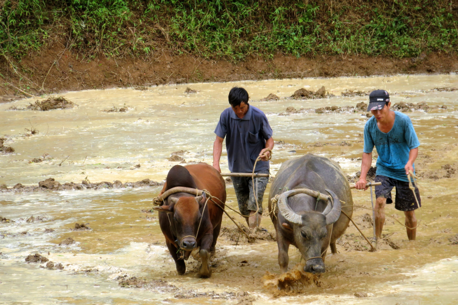
[[278, 197], [278, 209], [284, 219], [293, 224], [283, 223], [282, 226], [293, 232], [294, 241], [302, 257], [306, 261], [305, 272], [314, 274], [324, 273], [326, 267], [321, 258], [323, 242], [328, 235], [327, 226], [335, 223], [340, 217], [340, 200], [330, 190], [326, 190], [332, 200], [323, 212], [301, 212], [298, 214], [288, 206], [288, 196], [294, 191], [288, 191]]

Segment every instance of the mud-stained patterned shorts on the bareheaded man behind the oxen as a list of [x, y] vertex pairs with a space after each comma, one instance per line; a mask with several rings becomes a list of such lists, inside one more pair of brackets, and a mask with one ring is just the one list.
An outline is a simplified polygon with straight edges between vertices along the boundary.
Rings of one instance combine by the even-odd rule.
[[255, 189], [253, 192], [253, 181], [251, 177], [232, 177], [237, 203], [239, 204], [239, 210], [242, 215], [248, 216], [250, 215], [250, 211], [257, 210], [256, 201], [254, 200], [254, 194], [256, 193], [257, 203], [259, 204], [258, 212], [263, 214], [263, 197], [267, 182], [269, 182], [268, 177], [254, 178]]

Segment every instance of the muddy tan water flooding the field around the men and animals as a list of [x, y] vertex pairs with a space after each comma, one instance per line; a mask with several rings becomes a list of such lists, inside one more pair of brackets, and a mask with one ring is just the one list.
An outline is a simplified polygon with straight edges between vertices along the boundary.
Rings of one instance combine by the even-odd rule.
[[[267, 114], [274, 139], [284, 142], [274, 148], [273, 174], [281, 162], [306, 153], [338, 161], [349, 175], [360, 167], [357, 158], [362, 151], [360, 134], [367, 119], [365, 112], [278, 115], [289, 106], [298, 110], [355, 106], [367, 102], [367, 97], [340, 97], [340, 93], [346, 89], [374, 88], [388, 90], [394, 104], [425, 101], [430, 106], [447, 106], [429, 112], [408, 112], [421, 142], [417, 171], [427, 173], [419, 179], [423, 207], [417, 214], [421, 220], [418, 240], [406, 241], [403, 227], [387, 218], [384, 233], [399, 249], [382, 245], [381, 250], [371, 253], [357, 230], [350, 226], [348, 235], [338, 245], [339, 254], [327, 258], [328, 272], [321, 277], [321, 287], [272, 298], [271, 291], [263, 287], [265, 272], [279, 270], [277, 247], [272, 241], [249, 244], [242, 237], [235, 242], [220, 236], [210, 279], [196, 277], [197, 262], [192, 258], [188, 261], [189, 271], [178, 277], [158, 228], [157, 215], [142, 212], [151, 207], [151, 199], [159, 188], [0, 193], [0, 215], [12, 220], [0, 223], [0, 299], [6, 303], [33, 304], [215, 304], [243, 301], [237, 293], [246, 291], [249, 297], [245, 301], [254, 300], [253, 303], [456, 302], [458, 293], [453, 283], [458, 280], [458, 245], [452, 245], [449, 239], [458, 233], [458, 180], [455, 173], [444, 175], [441, 167], [458, 167], [454, 146], [458, 137], [457, 94], [428, 90], [458, 87], [457, 75], [205, 83], [191, 86], [197, 90], [195, 94], [185, 94], [186, 85], [143, 91], [89, 90], [65, 94], [78, 107], [48, 112], [8, 110], [35, 100], [3, 104], [0, 135], [7, 136], [5, 145], [15, 148], [15, 153], [0, 155], [0, 185], [36, 185], [48, 177], [61, 183], [81, 182], [86, 177], [92, 182], [145, 178], [161, 181], [171, 166], [180, 163], [168, 161], [170, 154], [178, 150], [184, 150], [186, 162], [211, 163], [213, 130], [220, 112], [228, 106], [227, 93], [234, 85], [247, 88], [251, 104]], [[322, 85], [336, 97], [284, 99], [299, 88], [316, 90]], [[281, 99], [259, 102], [270, 93]], [[128, 106], [129, 110], [102, 112], [113, 106]], [[26, 137], [24, 129], [30, 129], [31, 124], [39, 134]], [[342, 141], [350, 146], [337, 145]], [[316, 145], [317, 142], [325, 145]], [[45, 153], [51, 156], [50, 160], [28, 163]], [[137, 164], [139, 168], [135, 167]], [[227, 171], [224, 153], [221, 168]], [[236, 207], [229, 184], [227, 191], [228, 205]], [[355, 204], [370, 206], [368, 192], [353, 191], [353, 196]], [[355, 220], [364, 234], [371, 236], [371, 226], [363, 221], [367, 212], [357, 208]], [[27, 222], [32, 215], [34, 222]], [[387, 215], [403, 222], [402, 213], [391, 206], [387, 207]], [[72, 231], [75, 223], [87, 224], [91, 230]], [[223, 218], [223, 226], [234, 227], [227, 218]], [[267, 217], [262, 226], [274, 230]], [[45, 229], [54, 231], [45, 233]], [[59, 246], [67, 237], [76, 243]], [[64, 269], [48, 270], [38, 263], [26, 264], [24, 258], [36, 252], [62, 263]], [[300, 256], [291, 249], [290, 267], [299, 260]], [[119, 285], [122, 279], [130, 277], [150, 284], [143, 285], [145, 288]], [[157, 280], [166, 285], [154, 282]], [[357, 292], [368, 296], [357, 298]]]

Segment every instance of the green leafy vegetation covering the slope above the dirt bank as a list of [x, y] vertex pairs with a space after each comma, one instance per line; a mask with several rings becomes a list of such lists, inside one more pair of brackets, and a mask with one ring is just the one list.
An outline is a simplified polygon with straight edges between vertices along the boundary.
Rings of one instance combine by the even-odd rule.
[[51, 43], [86, 58], [146, 57], [168, 48], [231, 60], [277, 52], [410, 57], [458, 48], [458, 3], [450, 0], [6, 0], [0, 6], [0, 52], [16, 59]]

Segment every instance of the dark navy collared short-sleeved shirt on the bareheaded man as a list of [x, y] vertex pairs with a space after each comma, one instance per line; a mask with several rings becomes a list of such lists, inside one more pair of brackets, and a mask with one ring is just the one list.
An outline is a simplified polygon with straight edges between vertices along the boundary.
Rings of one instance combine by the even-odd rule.
[[[226, 138], [229, 170], [238, 173], [251, 173], [254, 162], [266, 147], [266, 140], [272, 137], [272, 128], [261, 110], [249, 105], [243, 118], [239, 118], [232, 108], [224, 109], [219, 118], [215, 134]], [[258, 161], [254, 172], [269, 171], [269, 161]]]

